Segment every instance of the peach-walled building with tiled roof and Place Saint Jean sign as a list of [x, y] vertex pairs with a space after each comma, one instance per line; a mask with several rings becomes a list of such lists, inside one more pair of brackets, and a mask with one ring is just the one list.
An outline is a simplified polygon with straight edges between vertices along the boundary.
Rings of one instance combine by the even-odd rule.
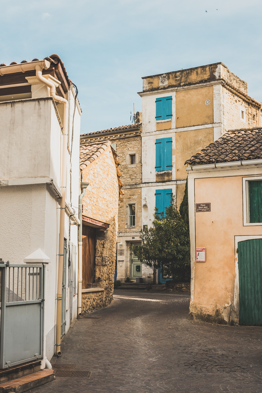
[[227, 132], [186, 161], [190, 319], [262, 325], [262, 129]]

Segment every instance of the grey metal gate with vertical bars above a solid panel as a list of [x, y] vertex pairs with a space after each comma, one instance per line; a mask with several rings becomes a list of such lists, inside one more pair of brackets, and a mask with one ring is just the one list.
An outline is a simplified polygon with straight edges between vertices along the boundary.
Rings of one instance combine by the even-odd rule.
[[41, 359], [44, 265], [0, 263], [0, 368]]

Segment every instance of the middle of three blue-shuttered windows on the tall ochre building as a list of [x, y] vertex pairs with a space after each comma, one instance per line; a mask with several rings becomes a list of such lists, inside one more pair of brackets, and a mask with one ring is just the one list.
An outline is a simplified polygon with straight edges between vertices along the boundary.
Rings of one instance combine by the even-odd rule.
[[172, 138], [156, 139], [156, 171], [172, 169]]

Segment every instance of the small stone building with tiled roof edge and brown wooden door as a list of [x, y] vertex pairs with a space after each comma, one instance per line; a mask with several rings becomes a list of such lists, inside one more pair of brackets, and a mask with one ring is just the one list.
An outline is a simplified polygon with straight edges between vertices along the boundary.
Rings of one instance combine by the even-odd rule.
[[81, 145], [81, 180], [89, 183], [82, 201], [82, 313], [112, 301], [118, 204], [123, 200], [118, 167], [110, 141]]

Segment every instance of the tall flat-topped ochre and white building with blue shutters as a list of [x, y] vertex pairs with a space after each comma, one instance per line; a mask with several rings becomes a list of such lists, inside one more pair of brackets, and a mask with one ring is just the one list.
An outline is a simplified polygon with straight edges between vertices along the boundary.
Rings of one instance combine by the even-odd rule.
[[[258, 127], [261, 104], [221, 62], [142, 79], [142, 225], [149, 227], [171, 193], [180, 206], [185, 160], [228, 129]], [[161, 274], [159, 281], [165, 282]]]

